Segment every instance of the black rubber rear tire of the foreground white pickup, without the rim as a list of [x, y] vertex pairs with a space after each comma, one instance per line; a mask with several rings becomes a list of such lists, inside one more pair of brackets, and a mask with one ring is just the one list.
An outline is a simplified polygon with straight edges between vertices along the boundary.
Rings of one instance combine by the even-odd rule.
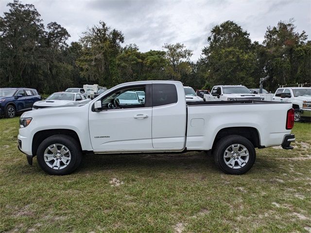
[[[245, 147], [248, 150], [248, 161], [239, 168], [232, 168], [229, 165], [225, 163], [225, 150], [230, 147], [231, 145], [240, 144], [243, 147]], [[242, 147], [241, 147], [242, 148]], [[242, 175], [245, 172], [247, 172], [255, 163], [256, 159], [256, 151], [254, 148], [254, 145], [245, 137], [242, 137], [240, 135], [228, 135], [224, 138], [220, 139], [215, 146], [215, 149], [213, 150], [215, 164], [223, 170], [227, 174], [231, 175]], [[237, 155], [238, 156], [238, 155]], [[232, 156], [231, 156], [232, 157]], [[232, 161], [235, 165], [239, 165], [238, 160], [245, 159], [246, 157], [243, 157], [241, 155], [237, 160]], [[226, 158], [227, 160], [230, 160], [231, 158]], [[232, 157], [232, 159], [235, 159]], [[236, 162], [235, 162], [236, 161]]]

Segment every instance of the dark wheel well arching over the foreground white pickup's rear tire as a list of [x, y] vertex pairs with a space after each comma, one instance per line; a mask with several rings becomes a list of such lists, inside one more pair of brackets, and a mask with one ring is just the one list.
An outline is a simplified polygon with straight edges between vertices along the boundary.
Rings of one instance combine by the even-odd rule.
[[247, 138], [254, 145], [255, 148], [260, 147], [259, 133], [257, 129], [253, 127], [229, 127], [220, 130], [214, 140], [213, 148], [219, 139], [228, 136], [230, 134], [240, 135]]

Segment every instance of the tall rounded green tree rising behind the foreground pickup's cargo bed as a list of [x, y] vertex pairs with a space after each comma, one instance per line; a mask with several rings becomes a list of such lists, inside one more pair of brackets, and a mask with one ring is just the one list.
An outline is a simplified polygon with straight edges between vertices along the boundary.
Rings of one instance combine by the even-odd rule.
[[200, 68], [201, 76], [207, 83], [256, 85], [253, 76], [258, 60], [249, 33], [233, 21], [225, 21], [212, 28], [207, 42], [200, 61], [205, 67]]

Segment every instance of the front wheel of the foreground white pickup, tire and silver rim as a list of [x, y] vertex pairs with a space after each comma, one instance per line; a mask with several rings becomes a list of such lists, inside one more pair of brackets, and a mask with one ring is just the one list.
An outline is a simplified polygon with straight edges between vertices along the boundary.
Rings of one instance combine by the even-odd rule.
[[80, 165], [81, 160], [80, 145], [64, 134], [46, 138], [37, 150], [39, 166], [50, 175], [67, 175]]

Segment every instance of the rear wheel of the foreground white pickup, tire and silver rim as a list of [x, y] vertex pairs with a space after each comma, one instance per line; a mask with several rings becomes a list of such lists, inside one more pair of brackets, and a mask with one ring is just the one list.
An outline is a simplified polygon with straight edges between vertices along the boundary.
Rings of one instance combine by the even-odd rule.
[[240, 135], [228, 135], [220, 139], [213, 151], [215, 164], [227, 174], [241, 175], [255, 163], [254, 145]]

